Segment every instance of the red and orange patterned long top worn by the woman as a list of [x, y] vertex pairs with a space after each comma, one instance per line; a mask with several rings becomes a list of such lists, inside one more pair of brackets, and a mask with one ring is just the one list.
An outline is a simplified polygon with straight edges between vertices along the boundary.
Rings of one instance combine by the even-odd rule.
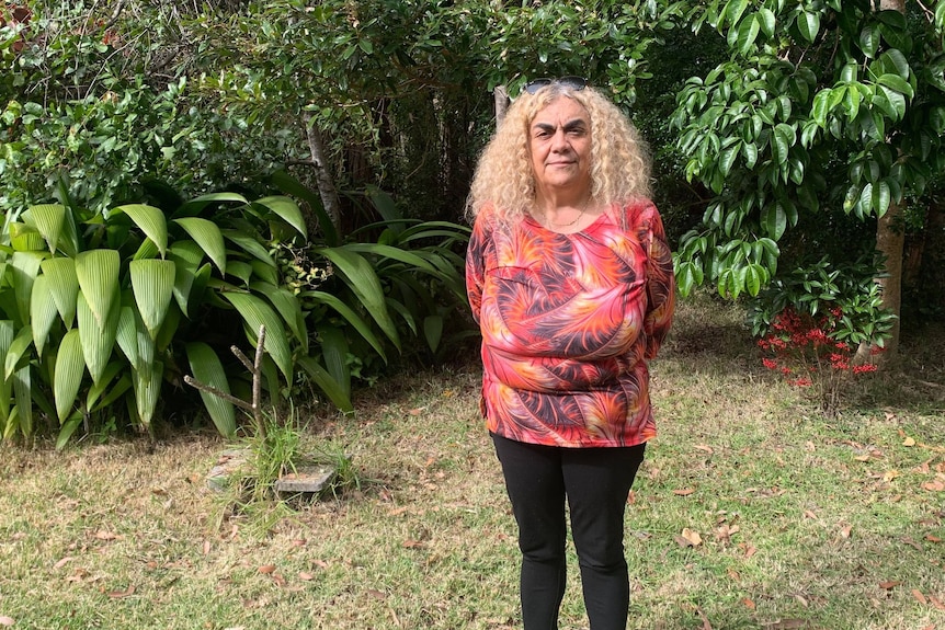
[[[628, 230], [611, 213], [623, 211]], [[649, 201], [612, 206], [562, 234], [483, 208], [466, 255], [482, 331], [490, 432], [563, 447], [634, 446], [656, 435], [647, 359], [670, 330], [675, 279]]]

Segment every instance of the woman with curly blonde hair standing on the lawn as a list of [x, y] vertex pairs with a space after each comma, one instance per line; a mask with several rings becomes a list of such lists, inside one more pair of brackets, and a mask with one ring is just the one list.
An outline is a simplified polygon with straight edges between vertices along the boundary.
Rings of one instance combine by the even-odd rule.
[[647, 359], [675, 286], [649, 172], [620, 111], [566, 77], [525, 88], [474, 177], [480, 406], [519, 525], [525, 630], [557, 628], [566, 500], [591, 629], [626, 628], [624, 509], [656, 435]]

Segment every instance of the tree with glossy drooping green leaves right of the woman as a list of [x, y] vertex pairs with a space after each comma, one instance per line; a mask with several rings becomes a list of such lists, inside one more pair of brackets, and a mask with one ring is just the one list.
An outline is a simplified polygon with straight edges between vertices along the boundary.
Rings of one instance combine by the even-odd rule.
[[[681, 290], [755, 296], [779, 261], [878, 247], [884, 299], [898, 309], [901, 241], [887, 237], [945, 171], [945, 3], [730, 0], [690, 19], [725, 36], [731, 58], [691, 79], [674, 114], [686, 175], [715, 195], [680, 244]], [[879, 242], [847, 217], [878, 218]]]

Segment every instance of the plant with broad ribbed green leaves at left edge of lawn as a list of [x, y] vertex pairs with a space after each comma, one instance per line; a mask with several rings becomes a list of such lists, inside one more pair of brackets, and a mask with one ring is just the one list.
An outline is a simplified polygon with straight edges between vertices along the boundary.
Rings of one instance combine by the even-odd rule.
[[[201, 216], [213, 213], [215, 220]], [[269, 256], [272, 232], [305, 234], [287, 197], [236, 193], [193, 199], [168, 219], [129, 204], [94, 214], [67, 204], [8, 215], [0, 248], [0, 403], [4, 437], [34, 432], [34, 404], [61, 446], [119, 400], [146, 429], [183, 360], [202, 380], [232, 383], [206, 331], [236, 323], [266, 340], [270, 390], [292, 382], [294, 352], [307, 350], [305, 320]], [[217, 331], [219, 332], [219, 331]], [[224, 331], [225, 332], [225, 331]], [[236, 339], [217, 336], [217, 345]], [[12, 401], [12, 405], [11, 405]], [[232, 405], [204, 399], [217, 429], [236, 432]]]

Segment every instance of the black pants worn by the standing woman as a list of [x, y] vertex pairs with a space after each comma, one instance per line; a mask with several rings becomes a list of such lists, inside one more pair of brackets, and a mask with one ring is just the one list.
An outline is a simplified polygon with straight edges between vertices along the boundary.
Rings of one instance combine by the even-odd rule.
[[630, 600], [624, 511], [646, 444], [559, 448], [492, 435], [519, 523], [525, 630], [555, 630], [565, 596], [565, 499], [591, 630], [625, 630]]

